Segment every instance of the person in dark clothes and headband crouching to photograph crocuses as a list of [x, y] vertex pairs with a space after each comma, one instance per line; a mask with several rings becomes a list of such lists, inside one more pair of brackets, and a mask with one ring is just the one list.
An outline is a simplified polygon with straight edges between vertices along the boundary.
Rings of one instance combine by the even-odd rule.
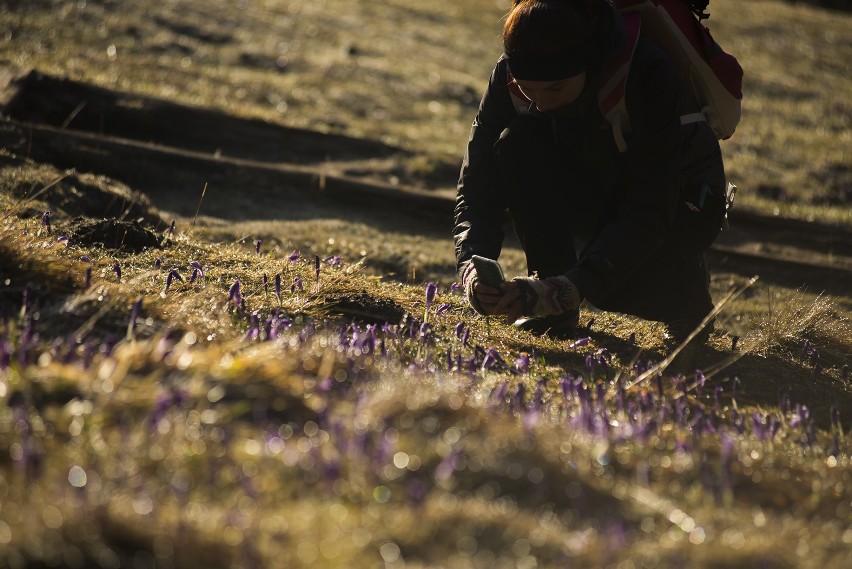
[[[698, 109], [642, 37], [627, 67], [630, 128], [615, 132], [599, 99], [628, 34], [606, 0], [514, 2], [455, 207], [457, 270], [478, 312], [570, 336], [585, 299], [661, 321], [680, 341], [712, 310], [705, 251], [725, 215], [719, 143], [706, 122], [682, 124]], [[498, 258], [507, 210], [528, 276], [489, 287], [470, 259]]]

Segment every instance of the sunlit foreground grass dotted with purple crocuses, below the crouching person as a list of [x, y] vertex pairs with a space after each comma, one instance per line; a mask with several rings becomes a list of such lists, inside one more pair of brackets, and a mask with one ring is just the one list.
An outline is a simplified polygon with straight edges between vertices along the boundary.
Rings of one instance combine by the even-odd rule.
[[[66, 247], [61, 220], [47, 235], [38, 218], [8, 216], [3, 232], [20, 236], [2, 240], [3, 266], [18, 266], [2, 296], [16, 315], [0, 372], [9, 563], [839, 567], [852, 542], [835, 423], [815, 428], [789, 396], [747, 404], [764, 380], [721, 369], [706, 384], [671, 375], [619, 391], [661, 356], [653, 325], [588, 313], [593, 336], [607, 335], [517, 335], [447, 286], [428, 313], [422, 284], [359, 263], [322, 263], [317, 288], [307, 250], [290, 260], [261, 242], [258, 254], [252, 240], [214, 245], [180, 225], [165, 249], [135, 256]], [[88, 290], [83, 256], [96, 267]], [[203, 281], [187, 282], [189, 260]], [[166, 291], [170, 267], [184, 281]], [[279, 301], [264, 273], [304, 289]], [[18, 311], [22, 278], [32, 304]], [[228, 298], [237, 279], [244, 305]], [[371, 331], [339, 320], [340, 297], [410, 316]], [[830, 321], [823, 301], [782, 301], [738, 355], [789, 370], [800, 355], [784, 347]], [[40, 339], [27, 344], [35, 310]], [[91, 325], [76, 334], [57, 326], [80, 316]], [[605, 349], [609, 334], [626, 351]]]

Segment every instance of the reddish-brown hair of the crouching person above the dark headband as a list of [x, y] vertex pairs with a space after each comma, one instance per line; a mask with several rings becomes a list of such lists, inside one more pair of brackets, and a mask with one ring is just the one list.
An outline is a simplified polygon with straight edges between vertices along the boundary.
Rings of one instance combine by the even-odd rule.
[[623, 32], [610, 0], [514, 0], [503, 25], [509, 55], [550, 55], [591, 41], [598, 61], [620, 49]]

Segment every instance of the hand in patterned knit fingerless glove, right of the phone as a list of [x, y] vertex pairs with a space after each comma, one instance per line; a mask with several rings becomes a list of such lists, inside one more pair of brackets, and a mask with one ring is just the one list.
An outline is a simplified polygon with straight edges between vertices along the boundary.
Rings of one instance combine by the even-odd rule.
[[494, 312], [508, 314], [514, 321], [520, 316], [550, 316], [576, 310], [583, 301], [580, 291], [565, 276], [515, 277]]

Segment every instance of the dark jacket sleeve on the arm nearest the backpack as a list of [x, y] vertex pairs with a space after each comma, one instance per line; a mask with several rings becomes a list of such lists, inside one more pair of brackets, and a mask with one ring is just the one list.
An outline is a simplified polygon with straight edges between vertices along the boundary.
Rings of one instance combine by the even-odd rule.
[[660, 247], [681, 185], [681, 94], [665, 57], [634, 65], [627, 85], [632, 126], [612, 215], [566, 276], [593, 304], [623, 284]]

